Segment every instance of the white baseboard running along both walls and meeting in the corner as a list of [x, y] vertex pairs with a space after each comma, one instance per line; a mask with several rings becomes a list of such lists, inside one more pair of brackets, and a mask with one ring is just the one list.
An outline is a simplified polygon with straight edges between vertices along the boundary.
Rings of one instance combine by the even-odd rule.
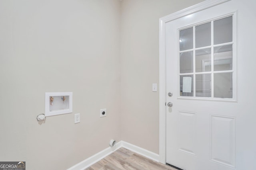
[[67, 170], [84, 170], [84, 169], [88, 168], [89, 166], [95, 164], [99, 160], [105, 158], [109, 154], [113, 153], [114, 151], [120, 149], [121, 147], [124, 147], [124, 148], [129, 149], [133, 152], [136, 152], [142, 156], [145, 156], [146, 158], [149, 158], [156, 162], [159, 162], [158, 154], [151, 152], [149, 150], [143, 149], [141, 147], [138, 147], [136, 145], [132, 145], [130, 143], [120, 141], [120, 142], [116, 143], [116, 145], [114, 147], [108, 147], [108, 148], [94, 154], [93, 156], [87, 158], [86, 160], [79, 162], [78, 164], [72, 166], [71, 168], [68, 168]]

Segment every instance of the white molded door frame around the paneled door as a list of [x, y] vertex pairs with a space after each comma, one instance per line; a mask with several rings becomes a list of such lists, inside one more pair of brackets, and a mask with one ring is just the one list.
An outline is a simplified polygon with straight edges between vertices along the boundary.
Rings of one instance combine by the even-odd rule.
[[166, 164], [166, 23], [230, 0], [206, 0], [159, 19], [159, 162]]

